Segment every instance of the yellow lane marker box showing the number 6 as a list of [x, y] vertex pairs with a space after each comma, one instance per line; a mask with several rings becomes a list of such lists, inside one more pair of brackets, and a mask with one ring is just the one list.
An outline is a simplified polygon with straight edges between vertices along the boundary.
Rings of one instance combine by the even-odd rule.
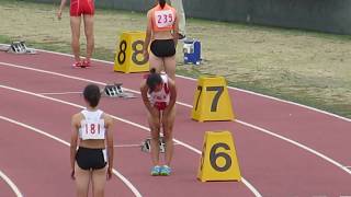
[[229, 131], [205, 134], [197, 178], [207, 181], [240, 181], [239, 163]]

